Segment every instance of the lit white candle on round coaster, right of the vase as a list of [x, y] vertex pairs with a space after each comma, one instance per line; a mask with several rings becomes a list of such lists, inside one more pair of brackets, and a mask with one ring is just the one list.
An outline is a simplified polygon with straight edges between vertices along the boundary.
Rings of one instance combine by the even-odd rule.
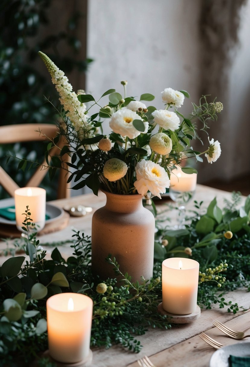
[[162, 262], [162, 307], [175, 315], [196, 310], [199, 263], [186, 258], [169, 258]]

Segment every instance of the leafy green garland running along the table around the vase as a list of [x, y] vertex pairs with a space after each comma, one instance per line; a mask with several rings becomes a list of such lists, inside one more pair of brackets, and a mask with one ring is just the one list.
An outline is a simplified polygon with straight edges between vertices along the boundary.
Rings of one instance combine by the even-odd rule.
[[[46, 299], [64, 291], [87, 294], [93, 299], [92, 347], [120, 344], [139, 352], [142, 346], [136, 335], [145, 334], [148, 327], [171, 327], [166, 317], [159, 315], [157, 306], [162, 297], [161, 262], [176, 255], [192, 256], [200, 263], [203, 272], [199, 274], [199, 305], [209, 309], [212, 303], [218, 303], [220, 308], [227, 307], [228, 312], [234, 313], [243, 309], [224, 298], [225, 293], [238, 287], [250, 290], [250, 196], [244, 207], [236, 210], [239, 201], [240, 194], [233, 193], [232, 201], [227, 201], [221, 210], [214, 199], [205, 214], [202, 203], [195, 201], [191, 224], [181, 230], [161, 228], [166, 212], [157, 216], [154, 276], [150, 282], [142, 278], [141, 284], [132, 283], [111, 255], [106, 261], [114, 268], [114, 279], [93, 277], [89, 266], [91, 241], [80, 232], [72, 236], [73, 254], [67, 261], [56, 247], [52, 259], [47, 260], [46, 251], [39, 250], [36, 234], [30, 233], [32, 219], [27, 207], [23, 229], [28, 235], [25, 251], [30, 261], [23, 264], [23, 256], [11, 257], [0, 268], [1, 361], [7, 366], [26, 366], [47, 349]], [[23, 240], [16, 240], [15, 248], [24, 248]], [[116, 275], [122, 276], [123, 286], [117, 285]], [[46, 359], [38, 360], [40, 367], [52, 365]]]

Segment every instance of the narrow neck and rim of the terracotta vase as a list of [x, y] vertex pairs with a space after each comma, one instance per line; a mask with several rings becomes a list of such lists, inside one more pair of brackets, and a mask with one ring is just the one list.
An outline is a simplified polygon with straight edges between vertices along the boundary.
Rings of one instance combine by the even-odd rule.
[[131, 213], [143, 207], [142, 196], [135, 195], [119, 195], [104, 191], [107, 197], [106, 209], [117, 213]]

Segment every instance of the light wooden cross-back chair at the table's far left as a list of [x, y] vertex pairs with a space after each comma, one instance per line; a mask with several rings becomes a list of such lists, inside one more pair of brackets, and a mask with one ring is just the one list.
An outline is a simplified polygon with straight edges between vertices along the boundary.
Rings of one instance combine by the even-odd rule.
[[[37, 131], [41, 131], [41, 134]], [[55, 138], [57, 133], [56, 125], [51, 124], [17, 124], [17, 125], [6, 125], [0, 126], [0, 144], [17, 143], [17, 142], [28, 142], [28, 141], [46, 141], [49, 138]], [[46, 137], [48, 137], [46, 139]], [[58, 146], [63, 146], [63, 138], [60, 139]], [[50, 155], [56, 155], [59, 153], [57, 147], [53, 147], [50, 150]], [[63, 157], [64, 161], [69, 160], [69, 156]], [[46, 161], [42, 164], [47, 165]], [[29, 179], [25, 186], [38, 186], [48, 170], [41, 170], [38, 167], [33, 176]], [[59, 183], [58, 183], [58, 199], [70, 197], [70, 189], [67, 185], [67, 179], [69, 175], [63, 168], [60, 169]], [[14, 197], [14, 191], [19, 188], [15, 181], [4, 171], [0, 166], [0, 185]]]

